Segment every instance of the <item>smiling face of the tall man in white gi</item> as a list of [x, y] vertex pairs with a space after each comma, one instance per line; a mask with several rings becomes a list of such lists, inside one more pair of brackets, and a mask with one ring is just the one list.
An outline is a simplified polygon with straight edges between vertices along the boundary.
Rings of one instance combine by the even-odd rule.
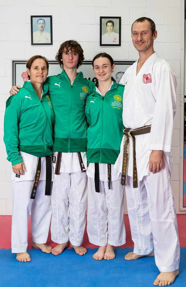
[[132, 42], [138, 52], [153, 50], [153, 43], [156, 38], [157, 31], [152, 35], [149, 21], [134, 22], [132, 26]]

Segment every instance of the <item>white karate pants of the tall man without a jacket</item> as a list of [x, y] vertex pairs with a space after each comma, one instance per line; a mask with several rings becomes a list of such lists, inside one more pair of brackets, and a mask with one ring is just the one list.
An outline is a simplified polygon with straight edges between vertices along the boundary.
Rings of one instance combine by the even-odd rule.
[[177, 218], [171, 188], [170, 168], [163, 156], [163, 169], [144, 176], [138, 188], [127, 177], [126, 200], [134, 253], [147, 255], [154, 251], [160, 272], [179, 268]]

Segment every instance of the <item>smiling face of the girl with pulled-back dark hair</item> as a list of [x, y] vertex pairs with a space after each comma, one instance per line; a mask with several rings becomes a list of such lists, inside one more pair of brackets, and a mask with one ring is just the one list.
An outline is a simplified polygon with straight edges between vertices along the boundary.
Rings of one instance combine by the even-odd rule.
[[110, 60], [106, 57], [100, 57], [94, 61], [94, 73], [98, 81], [107, 81], [111, 79], [114, 71], [114, 65], [111, 66]]

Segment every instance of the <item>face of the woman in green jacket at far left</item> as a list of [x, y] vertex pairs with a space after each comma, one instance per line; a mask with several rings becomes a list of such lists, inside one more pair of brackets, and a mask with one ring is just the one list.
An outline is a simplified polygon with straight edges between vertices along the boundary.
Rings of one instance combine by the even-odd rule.
[[37, 58], [31, 64], [30, 69], [27, 68], [27, 73], [30, 76], [30, 82], [44, 83], [48, 75], [48, 69], [45, 60]]

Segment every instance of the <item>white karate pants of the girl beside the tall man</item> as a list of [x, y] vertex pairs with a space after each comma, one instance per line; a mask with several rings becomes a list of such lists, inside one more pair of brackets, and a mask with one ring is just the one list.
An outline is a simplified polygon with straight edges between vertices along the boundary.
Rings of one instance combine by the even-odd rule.
[[125, 244], [124, 187], [121, 180], [100, 181], [100, 193], [94, 179], [88, 177], [87, 233], [90, 243], [105, 246]]

